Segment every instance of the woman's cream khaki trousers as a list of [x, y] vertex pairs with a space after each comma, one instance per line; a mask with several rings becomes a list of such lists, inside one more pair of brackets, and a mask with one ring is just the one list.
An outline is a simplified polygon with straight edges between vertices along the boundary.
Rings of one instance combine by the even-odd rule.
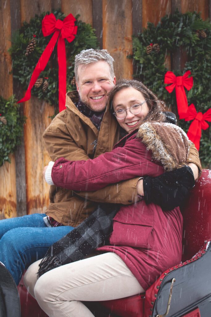
[[[27, 271], [29, 290], [38, 264]], [[35, 298], [50, 317], [93, 317], [81, 301], [113, 300], [143, 292], [126, 264], [111, 252], [55, 268], [42, 275], [34, 288]]]

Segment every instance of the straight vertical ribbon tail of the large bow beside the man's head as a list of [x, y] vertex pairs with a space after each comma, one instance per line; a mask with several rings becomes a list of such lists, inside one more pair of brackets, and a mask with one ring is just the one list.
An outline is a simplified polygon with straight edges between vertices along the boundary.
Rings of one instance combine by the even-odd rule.
[[59, 112], [66, 109], [66, 77], [67, 77], [67, 65], [66, 65], [66, 50], [65, 40], [59, 36], [57, 45], [57, 55], [59, 64]]

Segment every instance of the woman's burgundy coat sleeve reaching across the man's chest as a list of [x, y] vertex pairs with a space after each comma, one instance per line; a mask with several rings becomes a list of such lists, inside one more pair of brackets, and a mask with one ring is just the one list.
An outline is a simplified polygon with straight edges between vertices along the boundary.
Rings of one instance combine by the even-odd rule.
[[95, 159], [67, 161], [59, 159], [52, 169], [53, 183], [76, 191], [95, 191], [108, 184], [144, 175], [158, 176], [163, 168], [151, 161], [140, 139], [132, 139]]

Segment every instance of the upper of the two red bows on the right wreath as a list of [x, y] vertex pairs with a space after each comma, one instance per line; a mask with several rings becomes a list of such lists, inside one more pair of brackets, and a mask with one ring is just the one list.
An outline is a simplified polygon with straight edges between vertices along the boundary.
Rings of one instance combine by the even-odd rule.
[[169, 93], [172, 93], [175, 88], [179, 119], [184, 119], [188, 111], [188, 100], [184, 87], [188, 90], [193, 87], [193, 77], [188, 77], [189, 75], [191, 75], [189, 70], [183, 76], [177, 77], [173, 72], [168, 71], [164, 77], [164, 84], [171, 84], [170, 86], [166, 86], [165, 89]]

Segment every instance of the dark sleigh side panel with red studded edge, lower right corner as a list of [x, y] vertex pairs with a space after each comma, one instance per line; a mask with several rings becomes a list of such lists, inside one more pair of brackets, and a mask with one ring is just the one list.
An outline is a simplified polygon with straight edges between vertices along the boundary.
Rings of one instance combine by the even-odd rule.
[[[208, 241], [190, 260], [160, 275], [146, 291], [144, 317], [166, 314], [171, 284], [172, 297], [167, 316], [184, 316], [194, 307], [200, 307], [200, 303], [210, 297], [210, 261], [211, 243]], [[210, 311], [210, 307], [208, 309]]]

